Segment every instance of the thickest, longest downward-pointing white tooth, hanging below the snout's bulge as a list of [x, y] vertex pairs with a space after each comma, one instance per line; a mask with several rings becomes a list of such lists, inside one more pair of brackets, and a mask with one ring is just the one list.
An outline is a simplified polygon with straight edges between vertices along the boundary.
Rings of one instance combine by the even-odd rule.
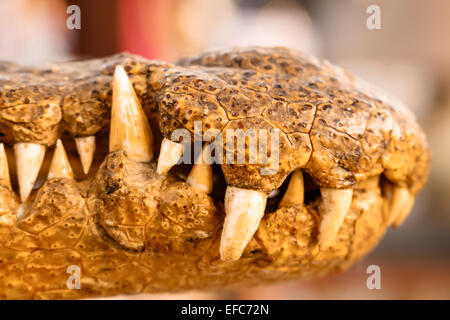
[[267, 195], [264, 192], [227, 187], [225, 221], [220, 238], [220, 258], [238, 260], [264, 216]]

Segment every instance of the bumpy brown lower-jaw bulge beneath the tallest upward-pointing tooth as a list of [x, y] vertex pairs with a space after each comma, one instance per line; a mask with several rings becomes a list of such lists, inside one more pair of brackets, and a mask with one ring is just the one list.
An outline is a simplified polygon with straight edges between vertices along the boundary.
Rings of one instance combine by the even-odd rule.
[[145, 224], [156, 214], [152, 195], [161, 181], [155, 168], [128, 160], [123, 151], [113, 152], [97, 173], [89, 206], [113, 239], [125, 248], [142, 250]]

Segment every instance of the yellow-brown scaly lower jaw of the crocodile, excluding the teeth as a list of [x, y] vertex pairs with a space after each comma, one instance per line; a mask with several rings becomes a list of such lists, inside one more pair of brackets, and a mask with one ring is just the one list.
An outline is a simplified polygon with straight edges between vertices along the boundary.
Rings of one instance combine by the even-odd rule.
[[[81, 183], [66, 178], [47, 180], [28, 200], [22, 221], [16, 221], [14, 209], [0, 213], [0, 260], [6, 261], [0, 275], [8, 273], [12, 284], [8, 289], [1, 281], [0, 296], [76, 298], [309, 278], [347, 268], [370, 251], [388, 227], [387, 199], [381, 188], [363, 182], [355, 185], [350, 210], [327, 249], [319, 249], [317, 240], [320, 197], [307, 195], [303, 205], [280, 209], [274, 205], [241, 258], [224, 262], [219, 254], [225, 216], [220, 201], [199, 193], [180, 175], [158, 176], [155, 163], [146, 165], [144, 174], [142, 164], [122, 161], [122, 171], [117, 172], [117, 167], [107, 168], [106, 162], [95, 177]], [[107, 194], [105, 185], [114, 179], [123, 184]], [[52, 192], [52, 197], [45, 196]], [[127, 192], [134, 192], [133, 204], [125, 197]], [[0, 193], [12, 199], [11, 191], [1, 189]], [[138, 235], [142, 230], [143, 246], [138, 249], [111, 237], [108, 228], [114, 223], [99, 221], [101, 213], [133, 205], [145, 221], [134, 225], [126, 221], [124, 227], [138, 228], [123, 230]], [[57, 215], [59, 211], [62, 214]], [[30, 217], [29, 225], [35, 226], [39, 218], [41, 223], [49, 221], [49, 226], [33, 231], [26, 223]], [[61, 237], [66, 241], [61, 242]], [[82, 270], [80, 290], [66, 287], [69, 265]]]

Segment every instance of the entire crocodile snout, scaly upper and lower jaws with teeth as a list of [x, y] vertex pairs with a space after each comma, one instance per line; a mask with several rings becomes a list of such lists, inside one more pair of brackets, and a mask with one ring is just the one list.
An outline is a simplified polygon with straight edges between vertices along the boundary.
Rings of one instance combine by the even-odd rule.
[[[0, 73], [0, 298], [344, 270], [402, 224], [427, 176], [426, 140], [407, 110], [284, 48], [177, 65], [127, 54], [0, 63]], [[202, 133], [279, 129], [279, 170], [210, 165], [193, 150], [193, 164], [177, 164], [186, 151], [171, 134], [193, 133], [197, 120]], [[81, 290], [66, 287], [74, 265]]]

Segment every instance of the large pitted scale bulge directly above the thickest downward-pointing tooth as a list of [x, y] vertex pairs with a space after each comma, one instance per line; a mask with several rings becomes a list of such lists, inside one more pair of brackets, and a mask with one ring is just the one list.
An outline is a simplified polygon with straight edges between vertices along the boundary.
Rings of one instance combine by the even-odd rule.
[[[237, 130], [242, 131], [239, 133]], [[261, 136], [258, 130], [264, 130], [266, 136]], [[275, 144], [278, 150], [272, 150], [272, 139], [274, 139], [272, 130], [276, 130], [278, 134], [278, 142]], [[238, 142], [234, 141], [234, 136], [242, 137], [237, 140], [244, 141], [244, 135], [247, 138], [245, 154], [242, 154], [238, 152], [240, 148]], [[258, 142], [258, 149], [253, 151], [250, 146], [252, 138], [254, 142]], [[293, 134], [289, 138], [262, 117], [230, 121], [223, 130], [223, 140], [224, 154], [221, 163], [223, 163], [222, 171], [227, 184], [266, 192], [278, 188], [289, 173], [304, 166], [312, 151], [307, 135]], [[233, 141], [233, 143], [227, 141]], [[256, 146], [256, 143], [253, 143], [253, 146]], [[240, 156], [245, 156], [243, 161], [239, 160]], [[251, 156], [255, 156], [255, 159]]]

